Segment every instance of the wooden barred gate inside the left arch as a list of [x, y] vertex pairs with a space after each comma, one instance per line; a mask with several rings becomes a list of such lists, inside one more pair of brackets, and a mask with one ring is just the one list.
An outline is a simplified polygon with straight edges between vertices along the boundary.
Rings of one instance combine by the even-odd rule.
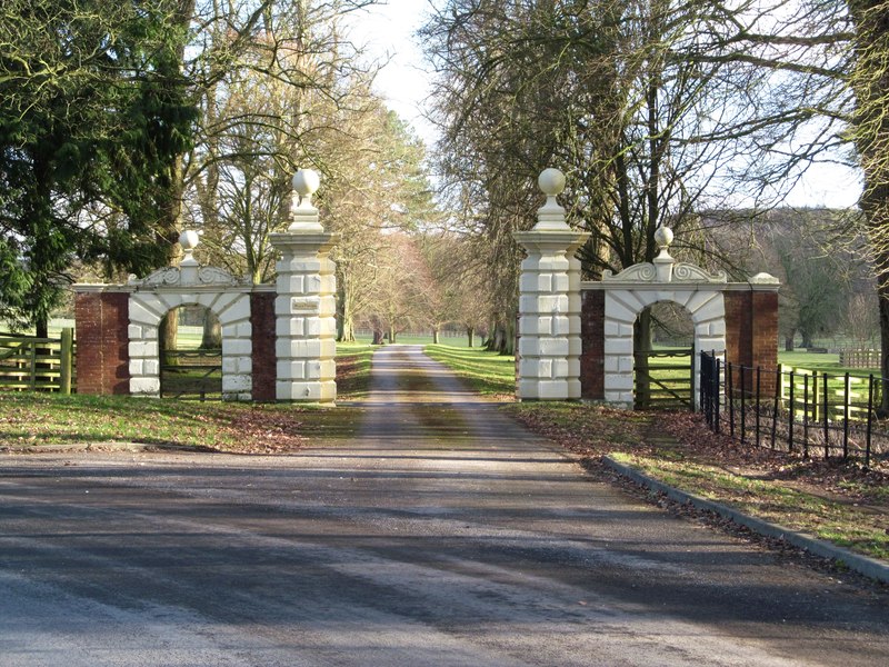
[[162, 352], [162, 398], [222, 399], [222, 350], [173, 350]]

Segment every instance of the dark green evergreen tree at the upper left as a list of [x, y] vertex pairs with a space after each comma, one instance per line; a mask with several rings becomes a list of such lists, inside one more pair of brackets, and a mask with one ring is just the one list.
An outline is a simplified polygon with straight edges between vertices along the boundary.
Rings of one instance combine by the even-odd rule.
[[139, 199], [190, 112], [164, 71], [178, 36], [162, 1], [11, 0], [0, 16], [0, 256], [18, 265], [0, 303], [46, 335], [74, 257], [152, 263], [153, 230], [109, 205]]

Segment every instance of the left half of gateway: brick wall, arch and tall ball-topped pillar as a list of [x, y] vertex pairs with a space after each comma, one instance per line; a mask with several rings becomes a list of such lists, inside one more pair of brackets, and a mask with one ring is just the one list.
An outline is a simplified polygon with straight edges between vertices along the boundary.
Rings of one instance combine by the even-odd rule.
[[300, 170], [291, 223], [271, 235], [276, 285], [252, 285], [191, 257], [127, 285], [77, 285], [78, 391], [159, 396], [158, 326], [171, 309], [209, 308], [222, 329], [222, 396], [230, 400], [333, 402], [336, 278], [327, 233], [311, 203], [318, 176]]

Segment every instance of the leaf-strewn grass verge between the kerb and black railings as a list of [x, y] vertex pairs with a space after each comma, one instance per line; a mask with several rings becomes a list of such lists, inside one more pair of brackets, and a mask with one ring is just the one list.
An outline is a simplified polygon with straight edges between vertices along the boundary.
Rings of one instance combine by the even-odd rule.
[[605, 455], [682, 491], [889, 561], [889, 470], [741, 448], [689, 412], [506, 406], [590, 461]]

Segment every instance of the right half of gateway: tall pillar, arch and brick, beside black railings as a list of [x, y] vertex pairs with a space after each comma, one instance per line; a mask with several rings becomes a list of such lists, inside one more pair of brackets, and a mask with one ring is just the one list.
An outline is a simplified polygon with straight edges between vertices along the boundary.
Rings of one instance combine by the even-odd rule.
[[585, 398], [632, 407], [633, 323], [646, 307], [660, 301], [679, 303], [690, 313], [696, 350], [716, 351], [745, 366], [777, 366], [776, 278], [760, 273], [730, 283], [723, 272], [710, 275], [677, 262], [669, 253], [672, 232], [660, 228], [660, 255], [652, 263], [581, 282], [575, 252], [589, 235], [571, 230], [556, 201], [565, 177], [548, 169], [538, 182], [548, 198], [538, 223], [515, 235], [527, 251], [517, 365], [521, 400]]

